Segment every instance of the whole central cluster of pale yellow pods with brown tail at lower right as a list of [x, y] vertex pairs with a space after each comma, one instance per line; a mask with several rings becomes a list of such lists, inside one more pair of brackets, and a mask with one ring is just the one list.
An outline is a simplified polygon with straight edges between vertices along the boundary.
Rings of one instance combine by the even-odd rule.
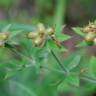
[[42, 23], [37, 25], [35, 32], [29, 32], [27, 38], [32, 40], [35, 47], [43, 47], [48, 39], [52, 39], [57, 46], [61, 46], [61, 43], [55, 36], [55, 29], [53, 27], [46, 29]]

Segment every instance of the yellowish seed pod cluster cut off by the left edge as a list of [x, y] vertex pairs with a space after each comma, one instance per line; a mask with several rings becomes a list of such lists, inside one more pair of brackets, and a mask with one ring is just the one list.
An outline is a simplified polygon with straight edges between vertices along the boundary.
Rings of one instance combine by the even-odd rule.
[[0, 32], [0, 48], [5, 46], [5, 43], [9, 37], [10, 37], [9, 32]]

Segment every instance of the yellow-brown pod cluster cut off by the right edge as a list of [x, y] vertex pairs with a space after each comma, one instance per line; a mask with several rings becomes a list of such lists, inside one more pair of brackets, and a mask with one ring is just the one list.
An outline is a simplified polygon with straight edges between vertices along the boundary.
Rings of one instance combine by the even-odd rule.
[[88, 45], [96, 44], [96, 24], [89, 23], [87, 26], [82, 28], [82, 31], [86, 33], [85, 41]]

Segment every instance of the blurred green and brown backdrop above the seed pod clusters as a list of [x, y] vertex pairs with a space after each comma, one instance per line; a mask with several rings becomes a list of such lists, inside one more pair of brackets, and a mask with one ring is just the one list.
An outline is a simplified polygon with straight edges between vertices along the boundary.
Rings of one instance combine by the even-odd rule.
[[1, 0], [0, 19], [82, 25], [96, 17], [96, 0]]

